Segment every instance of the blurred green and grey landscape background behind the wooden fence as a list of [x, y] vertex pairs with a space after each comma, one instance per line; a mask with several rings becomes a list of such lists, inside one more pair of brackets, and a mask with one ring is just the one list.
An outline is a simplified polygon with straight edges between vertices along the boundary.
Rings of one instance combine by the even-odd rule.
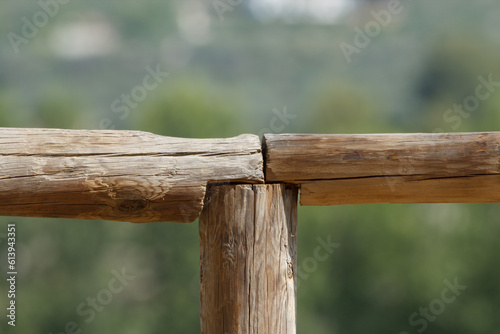
[[[478, 105], [470, 97], [480, 78], [500, 81], [500, 2], [396, 5], [4, 0], [0, 126], [180, 137], [498, 130], [498, 87]], [[158, 68], [169, 75], [155, 89], [137, 88]], [[498, 333], [499, 215], [498, 204], [300, 208], [298, 332]], [[72, 321], [81, 333], [199, 332], [197, 223], [0, 217], [2, 277], [8, 222], [18, 313], [11, 328], [2, 279], [1, 333], [65, 333]], [[338, 247], [315, 258], [328, 238]], [[78, 306], [122, 268], [135, 278], [88, 321]], [[467, 289], [440, 303], [455, 279]]]

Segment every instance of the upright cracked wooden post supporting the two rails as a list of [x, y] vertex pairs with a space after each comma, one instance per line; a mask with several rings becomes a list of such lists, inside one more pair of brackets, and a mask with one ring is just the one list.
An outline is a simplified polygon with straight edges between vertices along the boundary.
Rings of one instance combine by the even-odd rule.
[[295, 334], [297, 188], [221, 185], [200, 217], [201, 333]]

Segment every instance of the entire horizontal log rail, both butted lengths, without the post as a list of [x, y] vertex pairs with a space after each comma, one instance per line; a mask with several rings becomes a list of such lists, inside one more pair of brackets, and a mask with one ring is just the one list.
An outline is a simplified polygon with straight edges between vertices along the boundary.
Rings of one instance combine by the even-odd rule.
[[263, 146], [0, 128], [0, 215], [191, 222], [208, 184], [264, 180], [300, 186], [302, 205], [500, 202], [498, 132], [265, 135]]

